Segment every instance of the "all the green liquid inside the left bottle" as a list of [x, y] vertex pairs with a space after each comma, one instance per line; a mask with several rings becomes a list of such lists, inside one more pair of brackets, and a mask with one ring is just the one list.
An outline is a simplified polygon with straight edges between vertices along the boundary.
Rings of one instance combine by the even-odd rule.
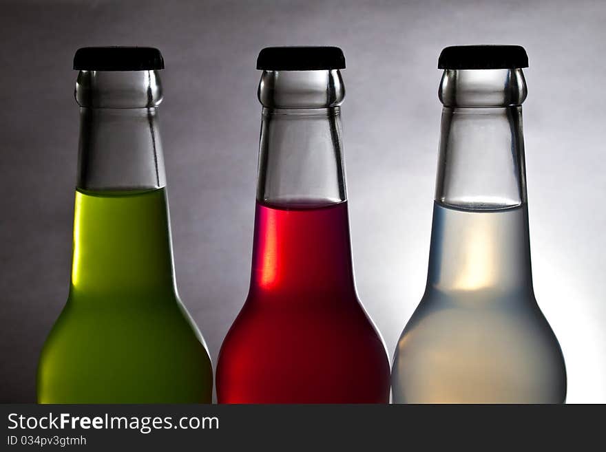
[[172, 262], [164, 189], [76, 191], [70, 295], [42, 350], [40, 403], [211, 402]]

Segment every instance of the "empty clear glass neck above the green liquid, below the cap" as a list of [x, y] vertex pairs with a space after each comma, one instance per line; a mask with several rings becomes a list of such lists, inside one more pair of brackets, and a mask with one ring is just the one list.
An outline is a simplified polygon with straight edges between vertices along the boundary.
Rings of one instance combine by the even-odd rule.
[[79, 189], [165, 186], [158, 71], [81, 71], [76, 101], [80, 105]]

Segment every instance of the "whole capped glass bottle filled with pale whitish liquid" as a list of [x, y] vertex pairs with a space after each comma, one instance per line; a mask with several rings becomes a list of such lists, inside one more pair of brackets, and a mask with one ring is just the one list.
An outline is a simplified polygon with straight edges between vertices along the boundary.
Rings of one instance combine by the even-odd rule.
[[532, 288], [519, 46], [447, 47], [427, 287], [393, 400], [561, 403], [566, 372]]

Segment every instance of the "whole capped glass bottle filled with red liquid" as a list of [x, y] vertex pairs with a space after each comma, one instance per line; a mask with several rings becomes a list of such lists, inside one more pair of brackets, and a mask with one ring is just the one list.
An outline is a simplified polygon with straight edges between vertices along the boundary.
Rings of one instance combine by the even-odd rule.
[[260, 52], [251, 285], [222, 344], [220, 403], [388, 402], [389, 363], [353, 279], [337, 47]]

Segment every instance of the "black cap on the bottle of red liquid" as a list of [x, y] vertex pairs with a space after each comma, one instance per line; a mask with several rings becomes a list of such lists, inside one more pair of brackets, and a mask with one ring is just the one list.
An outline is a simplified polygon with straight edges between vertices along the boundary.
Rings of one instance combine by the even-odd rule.
[[257, 69], [267, 71], [315, 71], [344, 69], [345, 56], [339, 47], [265, 47], [257, 58]]

